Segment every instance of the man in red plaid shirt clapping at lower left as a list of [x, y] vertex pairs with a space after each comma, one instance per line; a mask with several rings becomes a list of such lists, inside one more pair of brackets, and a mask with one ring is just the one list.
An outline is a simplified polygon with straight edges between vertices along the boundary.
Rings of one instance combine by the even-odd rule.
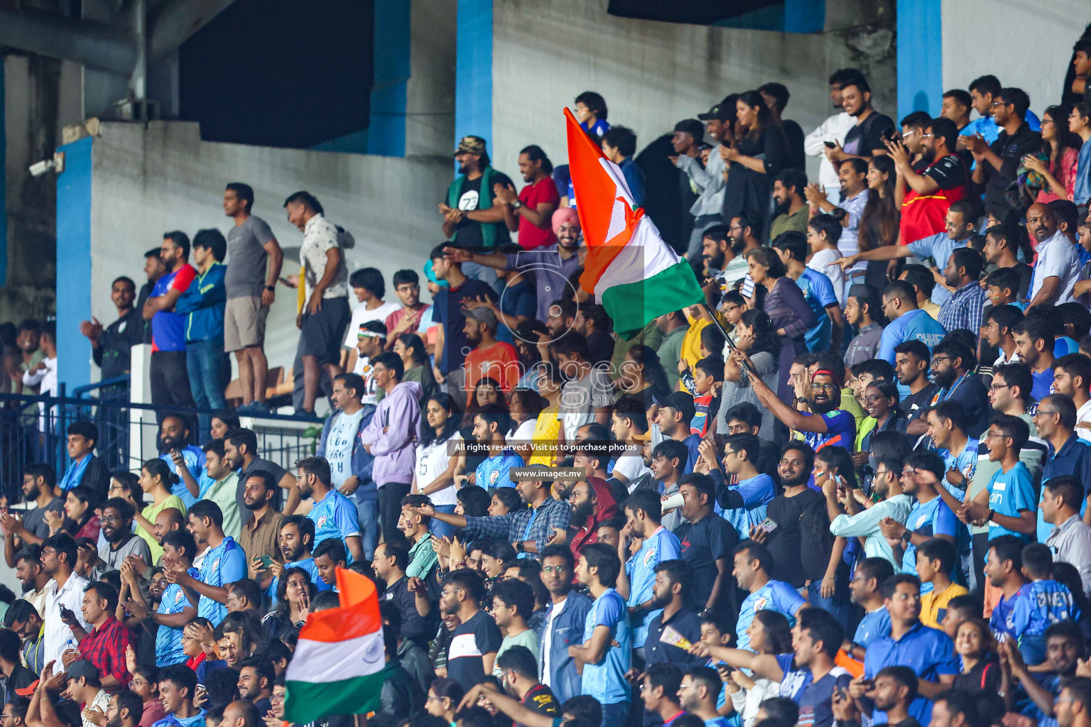
[[118, 607], [118, 591], [109, 583], [97, 581], [83, 595], [83, 622], [93, 627], [84, 630], [73, 617], [67, 621], [80, 647], [80, 658], [98, 669], [104, 689], [117, 691], [129, 684], [132, 675], [125, 666], [125, 649], [131, 644], [129, 629], [113, 613]]

